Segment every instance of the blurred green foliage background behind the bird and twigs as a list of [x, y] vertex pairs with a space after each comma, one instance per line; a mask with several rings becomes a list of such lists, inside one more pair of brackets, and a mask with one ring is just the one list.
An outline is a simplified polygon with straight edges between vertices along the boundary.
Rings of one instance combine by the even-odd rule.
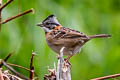
[[[80, 54], [71, 58], [72, 80], [120, 73], [120, 0], [14, 0], [3, 10], [2, 19], [30, 8], [34, 8], [35, 14], [29, 13], [2, 25], [0, 58], [15, 51], [8, 62], [29, 68], [32, 50], [35, 51], [35, 71], [43, 80], [48, 66], [53, 68], [57, 59], [46, 44], [44, 31], [36, 24], [55, 14], [65, 27], [87, 35], [112, 35], [112, 38], [89, 41]], [[24, 70], [15, 69], [29, 75]]]

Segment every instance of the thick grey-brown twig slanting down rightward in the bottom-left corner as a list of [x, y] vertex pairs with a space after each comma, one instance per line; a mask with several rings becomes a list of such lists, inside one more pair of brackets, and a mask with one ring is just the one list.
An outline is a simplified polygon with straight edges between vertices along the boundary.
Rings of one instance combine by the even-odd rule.
[[3, 65], [8, 68], [12, 73], [16, 74], [18, 77], [22, 78], [22, 79], [25, 79], [25, 80], [29, 80], [28, 77], [18, 73], [16, 70], [14, 70], [11, 66], [7, 65], [7, 63], [5, 61], [2, 61], [3, 62]]

